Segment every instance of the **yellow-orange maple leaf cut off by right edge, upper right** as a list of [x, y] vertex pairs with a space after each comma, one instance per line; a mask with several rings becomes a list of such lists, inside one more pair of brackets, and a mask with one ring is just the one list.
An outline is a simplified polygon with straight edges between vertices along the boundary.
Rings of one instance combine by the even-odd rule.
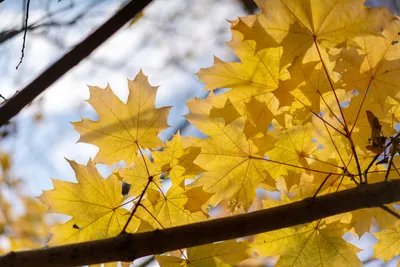
[[355, 38], [359, 48], [343, 49], [339, 55], [335, 68], [343, 75], [339, 86], [357, 89], [360, 95], [373, 99], [384, 108], [387, 97], [395, 97], [399, 91], [399, 31], [400, 22], [396, 19], [385, 28], [382, 36]]

